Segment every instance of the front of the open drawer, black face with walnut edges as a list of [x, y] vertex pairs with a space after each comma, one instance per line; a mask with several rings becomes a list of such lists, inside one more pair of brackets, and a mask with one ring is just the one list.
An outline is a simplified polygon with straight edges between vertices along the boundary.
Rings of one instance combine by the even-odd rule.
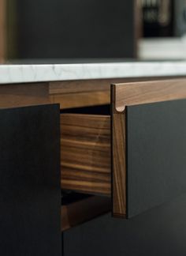
[[113, 89], [113, 216], [130, 218], [186, 193], [186, 81]]

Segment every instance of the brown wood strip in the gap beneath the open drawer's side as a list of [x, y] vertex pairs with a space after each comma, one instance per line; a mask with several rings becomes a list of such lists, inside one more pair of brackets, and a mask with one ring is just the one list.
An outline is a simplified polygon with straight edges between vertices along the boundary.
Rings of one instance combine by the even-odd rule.
[[61, 231], [111, 211], [111, 198], [93, 196], [61, 206]]

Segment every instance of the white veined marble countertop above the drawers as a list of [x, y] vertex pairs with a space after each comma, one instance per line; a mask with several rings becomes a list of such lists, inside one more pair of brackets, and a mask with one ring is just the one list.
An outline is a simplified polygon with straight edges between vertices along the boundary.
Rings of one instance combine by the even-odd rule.
[[186, 76], [186, 61], [92, 62], [0, 66], [0, 84], [164, 76]]

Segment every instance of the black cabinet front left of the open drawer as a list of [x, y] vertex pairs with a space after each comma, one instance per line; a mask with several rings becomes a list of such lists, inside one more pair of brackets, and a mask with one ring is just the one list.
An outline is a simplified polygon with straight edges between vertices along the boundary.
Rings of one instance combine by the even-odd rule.
[[59, 256], [59, 107], [0, 110], [0, 255]]

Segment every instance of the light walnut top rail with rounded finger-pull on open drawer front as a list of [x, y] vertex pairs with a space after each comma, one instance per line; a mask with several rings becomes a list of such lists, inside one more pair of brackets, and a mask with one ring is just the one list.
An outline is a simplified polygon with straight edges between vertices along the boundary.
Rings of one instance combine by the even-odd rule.
[[186, 78], [113, 85], [116, 111], [125, 106], [186, 98]]

